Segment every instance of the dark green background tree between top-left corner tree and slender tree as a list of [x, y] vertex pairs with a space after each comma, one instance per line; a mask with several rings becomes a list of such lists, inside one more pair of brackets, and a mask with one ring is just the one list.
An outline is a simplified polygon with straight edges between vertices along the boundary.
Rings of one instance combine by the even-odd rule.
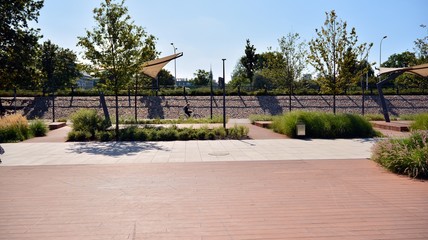
[[50, 40], [40, 47], [40, 72], [43, 95], [73, 85], [80, 76], [77, 57], [70, 49], [61, 48]]

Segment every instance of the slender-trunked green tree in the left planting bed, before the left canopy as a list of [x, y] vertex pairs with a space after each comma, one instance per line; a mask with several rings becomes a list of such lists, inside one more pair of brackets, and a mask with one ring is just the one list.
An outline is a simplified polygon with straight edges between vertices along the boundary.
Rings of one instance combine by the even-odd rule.
[[[99, 8], [94, 9], [97, 25], [92, 31], [86, 31], [86, 36], [78, 37], [78, 45], [84, 48], [84, 57], [91, 61], [95, 73], [104, 79], [106, 87], [115, 93], [116, 136], [119, 135], [118, 92], [136, 76], [146, 48], [152, 49], [147, 45], [147, 39], [155, 39], [131, 21], [124, 2], [102, 2]], [[154, 41], [152, 43], [154, 46]]]

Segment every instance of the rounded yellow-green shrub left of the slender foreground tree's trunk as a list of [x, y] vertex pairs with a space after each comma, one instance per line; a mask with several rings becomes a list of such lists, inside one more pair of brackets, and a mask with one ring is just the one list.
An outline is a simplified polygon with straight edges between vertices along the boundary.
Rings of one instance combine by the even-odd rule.
[[74, 131], [82, 131], [90, 134], [90, 138], [95, 138], [97, 131], [105, 130], [105, 121], [98, 116], [94, 109], [80, 109], [71, 116]]

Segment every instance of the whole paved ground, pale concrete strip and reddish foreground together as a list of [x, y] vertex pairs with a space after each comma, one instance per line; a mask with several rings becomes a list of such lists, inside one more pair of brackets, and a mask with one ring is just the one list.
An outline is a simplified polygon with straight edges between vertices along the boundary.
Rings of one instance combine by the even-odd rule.
[[374, 142], [2, 144], [0, 239], [428, 239], [428, 182]]

